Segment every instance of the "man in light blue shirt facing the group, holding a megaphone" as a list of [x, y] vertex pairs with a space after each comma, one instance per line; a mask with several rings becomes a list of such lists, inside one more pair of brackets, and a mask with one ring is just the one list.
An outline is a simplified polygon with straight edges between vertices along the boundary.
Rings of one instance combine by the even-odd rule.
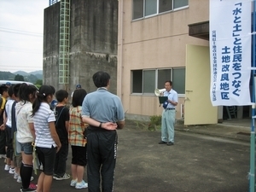
[[172, 81], [166, 81], [166, 91], [164, 96], [168, 96], [168, 104], [162, 112], [161, 122], [161, 141], [159, 144], [167, 144], [172, 146], [174, 144], [174, 124], [177, 106], [177, 92], [172, 90]]

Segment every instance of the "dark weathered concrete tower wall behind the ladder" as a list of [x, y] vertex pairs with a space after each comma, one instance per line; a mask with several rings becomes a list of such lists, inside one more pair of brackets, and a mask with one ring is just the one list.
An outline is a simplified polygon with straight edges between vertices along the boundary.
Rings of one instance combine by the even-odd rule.
[[70, 79], [58, 83], [60, 3], [44, 9], [44, 84], [70, 93], [76, 84], [87, 92], [96, 90], [92, 75], [106, 71], [110, 91], [117, 87], [118, 2], [114, 0], [73, 0], [70, 14]]

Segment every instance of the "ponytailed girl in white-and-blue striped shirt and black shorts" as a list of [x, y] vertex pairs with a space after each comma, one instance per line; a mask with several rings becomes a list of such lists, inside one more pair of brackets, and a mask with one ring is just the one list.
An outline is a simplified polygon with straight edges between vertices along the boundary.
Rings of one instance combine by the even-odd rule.
[[61, 142], [55, 129], [55, 113], [49, 108], [55, 89], [42, 85], [38, 97], [32, 105], [33, 125], [36, 131], [36, 151], [38, 160], [43, 164], [43, 171], [38, 177], [38, 192], [49, 192], [54, 173], [56, 153]]

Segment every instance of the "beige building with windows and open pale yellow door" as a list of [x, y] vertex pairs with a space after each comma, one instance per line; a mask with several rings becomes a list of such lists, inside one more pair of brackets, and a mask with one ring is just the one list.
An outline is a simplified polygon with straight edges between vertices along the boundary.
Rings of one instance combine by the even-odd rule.
[[189, 36], [189, 25], [208, 20], [206, 0], [119, 0], [117, 92], [127, 119], [160, 115], [154, 90], [171, 79], [177, 119], [184, 115], [187, 125], [217, 123], [208, 94], [209, 42]]

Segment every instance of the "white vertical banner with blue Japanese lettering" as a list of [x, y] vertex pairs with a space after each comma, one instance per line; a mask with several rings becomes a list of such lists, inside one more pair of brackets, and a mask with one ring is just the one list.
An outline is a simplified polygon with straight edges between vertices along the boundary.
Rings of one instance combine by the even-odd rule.
[[251, 3], [210, 0], [212, 106], [251, 104]]

